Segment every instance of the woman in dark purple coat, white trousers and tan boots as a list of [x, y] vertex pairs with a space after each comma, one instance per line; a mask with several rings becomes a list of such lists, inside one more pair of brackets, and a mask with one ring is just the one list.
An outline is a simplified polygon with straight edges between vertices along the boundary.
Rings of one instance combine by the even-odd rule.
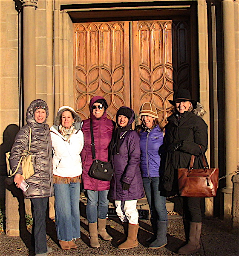
[[137, 201], [144, 197], [144, 188], [139, 169], [139, 136], [132, 130], [135, 113], [131, 108], [121, 107], [116, 114], [117, 128], [110, 145], [114, 175], [110, 198], [115, 201], [116, 212], [121, 221], [128, 221], [127, 240], [119, 249], [138, 246]]

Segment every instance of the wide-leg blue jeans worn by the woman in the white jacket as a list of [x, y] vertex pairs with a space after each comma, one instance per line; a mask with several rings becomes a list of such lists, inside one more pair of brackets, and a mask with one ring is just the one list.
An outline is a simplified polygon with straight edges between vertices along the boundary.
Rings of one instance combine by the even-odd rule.
[[58, 239], [71, 241], [80, 238], [80, 183], [54, 184], [54, 190]]

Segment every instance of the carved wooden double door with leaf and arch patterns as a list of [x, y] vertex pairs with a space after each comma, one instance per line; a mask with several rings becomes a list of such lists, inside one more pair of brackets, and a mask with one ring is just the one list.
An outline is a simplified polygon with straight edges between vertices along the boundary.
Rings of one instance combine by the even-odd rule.
[[137, 116], [144, 102], [152, 102], [165, 124], [175, 82], [187, 87], [190, 75], [187, 24], [142, 20], [74, 26], [75, 107], [82, 119], [89, 117], [92, 96], [103, 96], [110, 119], [121, 106]]

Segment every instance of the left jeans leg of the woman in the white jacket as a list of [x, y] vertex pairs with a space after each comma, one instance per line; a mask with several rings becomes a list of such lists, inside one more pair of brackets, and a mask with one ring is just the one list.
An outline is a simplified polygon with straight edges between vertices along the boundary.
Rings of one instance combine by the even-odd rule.
[[55, 223], [58, 240], [72, 240], [72, 215], [69, 184], [54, 184]]

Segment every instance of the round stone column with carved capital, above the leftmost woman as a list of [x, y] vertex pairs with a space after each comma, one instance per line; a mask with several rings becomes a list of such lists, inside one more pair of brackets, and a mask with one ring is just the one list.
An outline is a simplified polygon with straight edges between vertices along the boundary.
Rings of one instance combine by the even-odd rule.
[[25, 116], [29, 104], [36, 99], [36, 31], [37, 0], [20, 0], [23, 9], [23, 100]]

